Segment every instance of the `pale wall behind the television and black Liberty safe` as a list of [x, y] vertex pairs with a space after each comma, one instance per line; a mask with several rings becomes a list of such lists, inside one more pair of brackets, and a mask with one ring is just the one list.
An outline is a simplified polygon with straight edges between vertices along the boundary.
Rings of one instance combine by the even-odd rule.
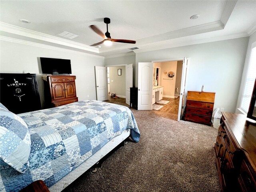
[[[104, 66], [104, 58], [76, 54], [72, 52], [40, 48], [14, 42], [0, 42], [0, 72], [1, 73], [35, 73], [38, 76], [38, 86], [42, 106], [44, 106], [43, 80], [39, 74], [40, 57], [66, 58], [71, 60], [72, 75], [76, 76], [76, 94], [78, 100], [95, 99], [94, 66]], [[87, 97], [89, 95], [89, 97]]]

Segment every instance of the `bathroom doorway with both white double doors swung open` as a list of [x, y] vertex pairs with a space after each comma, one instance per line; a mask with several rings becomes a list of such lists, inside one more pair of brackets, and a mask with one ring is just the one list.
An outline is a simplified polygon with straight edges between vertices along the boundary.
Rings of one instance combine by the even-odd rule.
[[[163, 108], [162, 110], [166, 110], [170, 112], [170, 114], [175, 114], [177, 117], [176, 119], [180, 121], [183, 114], [183, 109], [186, 105], [187, 90], [185, 85], [188, 75], [187, 70], [189, 66], [189, 60], [190, 58], [187, 59], [186, 57], [184, 57], [183, 59], [177, 58], [170, 60], [159, 60], [152, 61], [151, 63], [139, 62], [138, 110], [152, 110], [152, 104], [158, 102], [158, 104], [156, 104], [155, 106], [158, 106], [158, 109], [156, 110], [159, 111], [160, 108], [164, 107], [164, 105], [170, 103], [170, 108], [168, 108], [168, 105], [166, 105], [166, 108]], [[180, 66], [178, 67], [179, 78], [177, 79], [176, 85], [178, 62], [180, 65], [182, 65], [182, 67], [181, 69]], [[161, 66], [162, 63], [164, 63], [165, 65], [163, 64]], [[159, 64], [160, 66], [157, 66], [157, 64]], [[173, 68], [170, 68], [170, 66], [167, 64], [172, 64]], [[158, 80], [156, 80], [157, 75], [158, 77], [160, 77]], [[179, 83], [180, 86], [178, 86]], [[150, 90], [150, 87], [152, 87], [152, 90]], [[163, 98], [166, 100], [163, 100]]]

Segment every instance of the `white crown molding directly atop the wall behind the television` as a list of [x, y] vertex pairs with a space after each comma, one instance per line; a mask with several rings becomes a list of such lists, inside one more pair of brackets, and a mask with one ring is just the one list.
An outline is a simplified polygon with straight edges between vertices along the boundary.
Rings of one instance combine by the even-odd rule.
[[10, 37], [6, 37], [6, 36], [0, 36], [0, 40], [1, 41], [7, 41], [7, 42], [24, 44], [24, 45], [28, 45], [28, 46], [35, 46], [35, 47], [40, 47], [40, 48], [46, 48], [46, 49], [51, 49], [51, 50], [56, 50], [56, 51], [64, 51], [64, 52], [69, 52], [69, 53], [74, 53], [74, 54], [80, 54], [80, 55], [85, 55], [85, 56], [90, 56], [90, 57], [96, 57], [96, 58], [102, 58], [102, 59], [105, 58], [104, 56], [99, 56], [99, 55], [94, 55], [94, 54], [74, 51], [74, 50], [70, 50], [70, 49], [54, 47], [54, 46], [50, 46], [50, 45], [45, 45], [45, 44], [40, 44], [40, 43], [35, 43], [35, 42], [30, 42], [30, 41], [15, 39], [15, 38], [10, 38]]

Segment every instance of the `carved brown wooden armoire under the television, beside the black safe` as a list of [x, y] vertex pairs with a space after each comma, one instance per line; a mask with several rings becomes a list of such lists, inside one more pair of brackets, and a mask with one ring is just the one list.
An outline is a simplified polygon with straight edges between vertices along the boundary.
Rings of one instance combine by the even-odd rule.
[[[57, 107], [78, 101], [75, 79], [76, 76], [47, 76], [48, 90], [46, 87], [44, 89], [48, 107]], [[51, 99], [47, 100], [50, 97]]]

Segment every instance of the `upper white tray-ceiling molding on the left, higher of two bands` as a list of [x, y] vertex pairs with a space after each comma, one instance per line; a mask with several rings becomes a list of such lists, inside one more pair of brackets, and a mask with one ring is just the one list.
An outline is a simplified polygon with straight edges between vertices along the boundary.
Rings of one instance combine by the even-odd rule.
[[74, 41], [55, 37], [52, 35], [36, 32], [36, 31], [29, 30], [26, 28], [14, 26], [14, 25], [4, 23], [4, 22], [0, 22], [0, 30], [4, 31], [4, 32], [12, 33], [12, 34], [29, 37], [29, 38], [39, 39], [39, 40], [43, 40], [43, 41], [47, 41], [47, 42], [51, 42], [51, 43], [56, 43], [56, 44], [69, 46], [69, 47], [73, 47], [73, 48], [78, 48], [78, 49], [82, 49], [82, 50], [86, 50], [86, 51], [90, 51], [90, 52], [94, 52], [94, 53], [99, 53], [99, 49], [95, 48], [95, 47], [91, 47], [91, 46], [88, 46], [88, 45], [85, 45], [82, 43], [77, 43]]

